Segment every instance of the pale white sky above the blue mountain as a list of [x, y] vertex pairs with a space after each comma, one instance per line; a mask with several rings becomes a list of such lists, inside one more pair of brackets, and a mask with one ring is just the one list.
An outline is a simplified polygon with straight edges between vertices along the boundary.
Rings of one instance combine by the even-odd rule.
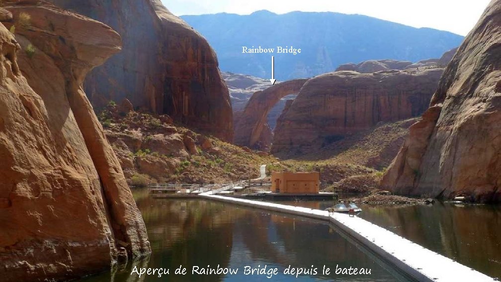
[[248, 15], [259, 10], [361, 14], [412, 27], [466, 35], [490, 0], [162, 0], [177, 16], [215, 13]]

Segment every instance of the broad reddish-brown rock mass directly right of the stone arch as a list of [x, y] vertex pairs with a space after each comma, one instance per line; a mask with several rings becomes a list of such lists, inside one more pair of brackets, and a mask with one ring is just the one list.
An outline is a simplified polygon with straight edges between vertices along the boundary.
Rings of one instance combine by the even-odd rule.
[[314, 77], [279, 118], [272, 153], [312, 152], [378, 122], [418, 116], [442, 71], [339, 71]]

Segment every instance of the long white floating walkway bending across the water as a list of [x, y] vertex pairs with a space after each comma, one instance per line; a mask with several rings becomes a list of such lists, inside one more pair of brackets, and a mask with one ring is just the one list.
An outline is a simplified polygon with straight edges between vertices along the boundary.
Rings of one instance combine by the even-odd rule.
[[[263, 168], [263, 167], [262, 167]], [[266, 166], [265, 166], [266, 175]], [[428, 250], [358, 217], [310, 208], [200, 194], [203, 198], [329, 221], [366, 248], [418, 281], [494, 281], [493, 278]]]

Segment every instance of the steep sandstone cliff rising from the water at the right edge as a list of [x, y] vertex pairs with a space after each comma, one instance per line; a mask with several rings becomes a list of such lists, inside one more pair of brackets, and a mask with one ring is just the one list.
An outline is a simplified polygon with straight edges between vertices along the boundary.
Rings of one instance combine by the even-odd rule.
[[381, 185], [396, 193], [501, 201], [501, 1], [488, 5], [447, 66], [430, 108]]

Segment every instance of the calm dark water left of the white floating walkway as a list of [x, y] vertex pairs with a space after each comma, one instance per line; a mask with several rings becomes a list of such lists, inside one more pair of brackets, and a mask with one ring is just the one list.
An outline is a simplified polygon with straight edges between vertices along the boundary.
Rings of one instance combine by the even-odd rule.
[[[391, 266], [328, 225], [298, 217], [205, 200], [151, 199], [146, 190], [134, 197], [143, 214], [153, 249], [134, 261], [80, 281], [407, 281]], [[237, 274], [191, 274], [192, 266], [238, 268]], [[175, 275], [180, 265], [186, 275]], [[244, 275], [245, 266], [278, 268], [272, 278]], [[284, 274], [289, 267], [317, 268], [317, 274]], [[313, 265], [313, 267], [312, 267]], [[331, 268], [323, 274], [323, 266]], [[371, 274], [336, 274], [335, 268], [370, 269]], [[131, 274], [134, 266], [169, 268], [169, 275]], [[305, 270], [304, 270], [305, 271]]]

